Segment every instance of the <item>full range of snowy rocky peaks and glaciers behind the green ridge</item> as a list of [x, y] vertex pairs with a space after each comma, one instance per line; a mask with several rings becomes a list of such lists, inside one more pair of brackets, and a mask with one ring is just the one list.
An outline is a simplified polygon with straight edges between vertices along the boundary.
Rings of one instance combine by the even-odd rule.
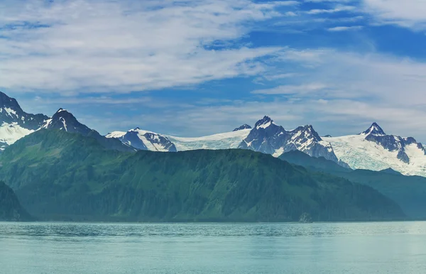
[[299, 150], [312, 157], [332, 160], [344, 168], [376, 171], [392, 168], [403, 175], [426, 177], [426, 150], [422, 144], [412, 137], [388, 135], [376, 123], [362, 133], [341, 137], [320, 137], [310, 125], [287, 131], [268, 116], [257, 121], [253, 128], [244, 124], [233, 131], [212, 136], [184, 138], [141, 128], [114, 131], [102, 136], [81, 124], [65, 109], [59, 109], [51, 117], [27, 114], [16, 99], [1, 92], [0, 119], [1, 150], [23, 136], [47, 128], [91, 136], [105, 148], [121, 151], [177, 152], [241, 148], [279, 157], [283, 153]]

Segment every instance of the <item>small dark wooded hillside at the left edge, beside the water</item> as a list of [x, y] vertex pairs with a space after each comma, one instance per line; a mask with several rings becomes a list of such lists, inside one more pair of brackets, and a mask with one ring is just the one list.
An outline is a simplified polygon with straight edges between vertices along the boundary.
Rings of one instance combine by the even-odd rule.
[[29, 221], [26, 212], [16, 197], [15, 192], [4, 182], [0, 182], [0, 221]]

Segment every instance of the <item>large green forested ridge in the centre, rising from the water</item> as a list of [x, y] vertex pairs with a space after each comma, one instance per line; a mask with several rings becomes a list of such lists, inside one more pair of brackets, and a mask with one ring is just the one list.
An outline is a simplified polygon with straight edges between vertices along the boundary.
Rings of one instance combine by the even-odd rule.
[[400, 219], [376, 190], [251, 150], [106, 150], [41, 130], [7, 148], [0, 179], [31, 214], [55, 220], [313, 221]]

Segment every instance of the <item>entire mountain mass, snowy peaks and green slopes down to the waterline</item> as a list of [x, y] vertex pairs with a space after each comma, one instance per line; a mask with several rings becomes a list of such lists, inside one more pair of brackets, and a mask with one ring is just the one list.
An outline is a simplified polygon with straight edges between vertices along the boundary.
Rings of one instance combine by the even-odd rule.
[[426, 178], [405, 176], [422, 173], [425, 148], [376, 123], [343, 137], [285, 130], [268, 116], [212, 136], [102, 136], [65, 109], [27, 114], [0, 95], [0, 180], [11, 187], [0, 212], [19, 212], [19, 200], [60, 221], [426, 218]]

